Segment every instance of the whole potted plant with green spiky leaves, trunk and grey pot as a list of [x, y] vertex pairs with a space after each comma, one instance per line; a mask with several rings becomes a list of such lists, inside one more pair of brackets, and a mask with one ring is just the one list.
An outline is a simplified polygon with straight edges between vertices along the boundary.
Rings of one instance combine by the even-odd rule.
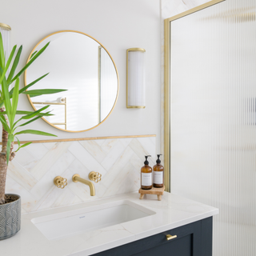
[[[42, 94], [54, 94], [64, 91], [55, 89], [28, 90], [36, 82], [46, 77], [47, 74], [19, 89], [19, 77], [46, 50], [49, 43], [41, 50], [34, 52], [30, 61], [16, 74], [16, 68], [22, 54], [22, 46], [19, 47], [18, 51], [16, 51], [17, 46], [14, 46], [10, 52], [10, 57], [6, 59], [2, 34], [0, 33], [0, 122], [2, 123], [2, 150], [0, 152], [0, 240], [10, 238], [20, 230], [21, 198], [18, 194], [6, 194], [6, 173], [8, 163], [14, 159], [16, 152], [32, 142], [21, 145], [18, 135], [38, 134], [56, 136], [40, 130], [16, 130], [18, 127], [26, 126], [42, 116], [52, 115], [50, 111], [46, 112], [49, 105], [37, 111], [17, 110], [20, 94], [29, 94], [30, 97], [35, 97]], [[13, 86], [12, 89], [10, 89], [11, 86]], [[18, 149], [15, 151], [14, 140], [18, 142]]]

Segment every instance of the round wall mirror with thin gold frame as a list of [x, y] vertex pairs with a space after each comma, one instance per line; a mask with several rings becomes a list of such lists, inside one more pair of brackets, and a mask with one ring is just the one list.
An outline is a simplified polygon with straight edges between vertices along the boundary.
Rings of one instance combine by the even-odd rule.
[[118, 98], [118, 72], [108, 51], [94, 38], [78, 31], [48, 35], [28, 59], [47, 42], [50, 45], [25, 73], [25, 86], [48, 74], [31, 87], [66, 89], [58, 94], [29, 98], [34, 110], [50, 105], [50, 125], [70, 132], [90, 130], [106, 120]]

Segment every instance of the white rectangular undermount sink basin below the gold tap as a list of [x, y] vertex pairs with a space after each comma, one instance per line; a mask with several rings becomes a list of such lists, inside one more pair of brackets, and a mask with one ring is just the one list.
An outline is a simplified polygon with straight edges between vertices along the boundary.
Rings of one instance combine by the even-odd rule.
[[34, 218], [31, 222], [49, 240], [99, 230], [155, 214], [129, 200], [71, 210]]

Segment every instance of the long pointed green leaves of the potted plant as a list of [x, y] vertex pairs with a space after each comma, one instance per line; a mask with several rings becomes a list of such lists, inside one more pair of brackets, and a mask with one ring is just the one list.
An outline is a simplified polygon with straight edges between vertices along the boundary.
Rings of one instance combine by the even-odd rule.
[[[31, 122], [34, 122], [39, 118], [42, 118], [43, 116], [53, 115], [53, 114], [50, 114], [50, 111], [43, 113], [43, 111], [46, 110], [50, 105], [44, 106], [41, 109], [36, 110], [34, 112], [17, 110], [19, 94], [29, 94], [30, 97], [35, 97], [42, 94], [56, 94], [56, 93], [66, 91], [66, 90], [60, 90], [60, 89], [28, 90], [36, 82], [39, 82], [42, 78], [45, 78], [46, 75], [48, 75], [49, 73], [42, 75], [42, 77], [34, 80], [34, 82], [31, 82], [29, 85], [19, 90], [20, 75], [46, 50], [49, 44], [50, 42], [48, 42], [45, 46], [43, 46], [41, 50], [35, 51], [33, 54], [31, 54], [30, 60], [26, 63], [25, 66], [22, 67], [22, 69], [17, 74], [16, 70], [21, 58], [22, 46], [19, 47], [16, 55], [15, 55], [15, 51], [17, 46], [14, 46], [13, 49], [11, 50], [10, 57], [6, 60], [6, 56], [3, 48], [3, 42], [2, 42], [2, 34], [0, 33], [0, 85], [2, 87], [1, 88], [2, 90], [0, 90], [0, 107], [4, 106], [6, 108], [5, 111], [0, 112], [0, 122], [2, 123], [3, 129], [6, 130], [6, 132], [8, 133], [8, 140], [6, 145], [7, 165], [10, 161], [10, 148], [11, 148], [12, 142], [14, 142], [14, 135], [38, 134], [43, 136], [57, 137], [54, 134], [46, 133], [40, 130], [22, 130], [14, 134], [14, 130], [16, 130], [20, 126], [26, 126]], [[14, 58], [14, 55], [15, 55], [15, 58]], [[13, 61], [13, 58], [14, 58], [14, 61]], [[8, 75], [8, 77], [6, 76], [7, 70], [10, 70], [10, 74]], [[14, 81], [15, 81], [14, 88], [9, 91], [9, 86]], [[17, 124], [17, 122], [14, 123], [14, 118], [18, 114], [22, 115], [22, 117], [19, 118], [17, 122], [21, 121], [22, 119], [25, 119], [26, 122], [14, 128], [14, 126]], [[8, 120], [10, 122], [10, 125], [8, 124]], [[17, 141], [18, 141], [18, 150], [20, 150], [22, 147], [25, 147], [31, 144], [31, 142], [27, 142], [21, 146], [21, 143], [18, 140], [18, 138], [17, 138]], [[16, 152], [18, 150], [16, 150]]]

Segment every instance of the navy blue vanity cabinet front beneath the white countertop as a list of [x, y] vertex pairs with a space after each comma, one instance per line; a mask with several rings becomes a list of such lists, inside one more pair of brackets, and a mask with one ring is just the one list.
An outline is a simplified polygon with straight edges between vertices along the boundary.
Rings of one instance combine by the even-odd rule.
[[[212, 219], [204, 218], [93, 256], [212, 256]], [[166, 234], [177, 238], [167, 241]]]

